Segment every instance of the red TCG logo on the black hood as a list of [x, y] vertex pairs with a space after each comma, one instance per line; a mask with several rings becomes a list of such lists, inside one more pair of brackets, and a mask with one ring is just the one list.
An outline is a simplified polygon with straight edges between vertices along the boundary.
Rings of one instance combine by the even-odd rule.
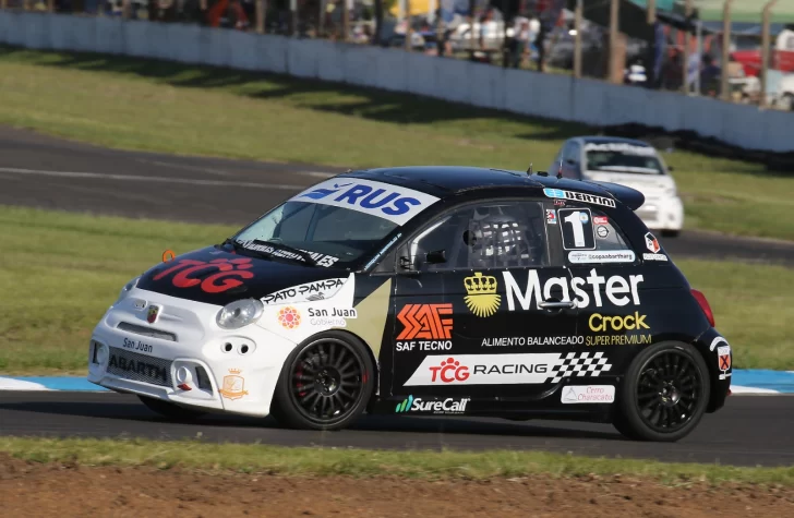
[[[175, 266], [155, 275], [154, 280], [160, 280], [169, 275], [173, 275], [171, 284], [177, 288], [191, 288], [198, 286], [202, 291], [207, 293], [221, 293], [238, 286], [242, 286], [241, 279], [251, 279], [254, 274], [246, 272], [253, 268], [250, 257], [245, 258], [217, 258], [209, 262], [196, 260], [180, 260]], [[206, 278], [194, 278], [200, 272], [207, 269], [217, 269], [216, 274]]]

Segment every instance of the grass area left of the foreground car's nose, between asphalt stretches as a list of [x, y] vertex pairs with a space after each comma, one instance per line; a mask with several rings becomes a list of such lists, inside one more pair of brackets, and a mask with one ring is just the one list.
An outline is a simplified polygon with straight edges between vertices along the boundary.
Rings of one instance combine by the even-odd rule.
[[91, 333], [121, 287], [230, 228], [0, 206], [0, 372], [85, 373]]

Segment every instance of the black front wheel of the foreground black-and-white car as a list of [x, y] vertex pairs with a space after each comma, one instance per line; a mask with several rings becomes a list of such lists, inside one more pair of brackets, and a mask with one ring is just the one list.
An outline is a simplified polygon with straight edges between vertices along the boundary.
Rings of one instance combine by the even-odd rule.
[[375, 384], [366, 346], [341, 332], [305, 340], [284, 363], [270, 413], [279, 424], [303, 430], [341, 430], [366, 408]]

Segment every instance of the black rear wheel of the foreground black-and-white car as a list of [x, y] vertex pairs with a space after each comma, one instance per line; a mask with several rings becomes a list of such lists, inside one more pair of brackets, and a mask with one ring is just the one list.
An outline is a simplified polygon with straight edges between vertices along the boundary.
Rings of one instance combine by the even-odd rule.
[[618, 387], [613, 425], [635, 441], [679, 441], [706, 412], [709, 380], [708, 366], [693, 346], [651, 346], [637, 354]]

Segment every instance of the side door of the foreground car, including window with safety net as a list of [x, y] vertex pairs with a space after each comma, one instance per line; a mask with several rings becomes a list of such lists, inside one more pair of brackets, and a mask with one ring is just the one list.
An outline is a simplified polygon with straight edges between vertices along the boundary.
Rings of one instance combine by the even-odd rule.
[[549, 388], [578, 338], [569, 273], [550, 253], [548, 228], [558, 224], [546, 207], [459, 206], [398, 251], [393, 394], [528, 398]]

